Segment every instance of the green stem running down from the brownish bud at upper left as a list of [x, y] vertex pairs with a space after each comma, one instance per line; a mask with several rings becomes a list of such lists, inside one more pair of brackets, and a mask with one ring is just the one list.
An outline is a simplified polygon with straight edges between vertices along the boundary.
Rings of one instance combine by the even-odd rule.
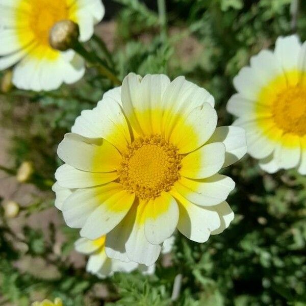
[[95, 66], [99, 72], [108, 79], [110, 79], [115, 85], [121, 85], [121, 81], [116, 75], [106, 66], [106, 64], [93, 53], [89, 53], [80, 42], [75, 43], [74, 51], [81, 55], [88, 63]]

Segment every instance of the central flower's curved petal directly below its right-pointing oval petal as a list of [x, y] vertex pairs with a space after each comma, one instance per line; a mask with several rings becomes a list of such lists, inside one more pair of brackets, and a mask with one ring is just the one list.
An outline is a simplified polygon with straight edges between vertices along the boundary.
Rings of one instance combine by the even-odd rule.
[[175, 189], [189, 201], [199, 206], [214, 206], [223, 202], [235, 188], [231, 177], [215, 174], [208, 179], [190, 180], [182, 177]]

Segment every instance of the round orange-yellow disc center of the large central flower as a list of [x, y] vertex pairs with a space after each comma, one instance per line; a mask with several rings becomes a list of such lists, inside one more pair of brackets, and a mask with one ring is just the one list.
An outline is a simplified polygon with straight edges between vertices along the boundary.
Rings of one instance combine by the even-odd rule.
[[160, 135], [136, 139], [122, 157], [119, 181], [141, 199], [155, 199], [180, 179], [181, 155]]

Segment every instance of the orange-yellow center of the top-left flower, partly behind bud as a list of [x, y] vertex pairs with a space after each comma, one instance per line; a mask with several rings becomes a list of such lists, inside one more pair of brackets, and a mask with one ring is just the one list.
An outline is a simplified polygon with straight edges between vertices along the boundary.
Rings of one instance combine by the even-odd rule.
[[56, 22], [69, 16], [67, 3], [63, 0], [32, 0], [30, 3], [30, 28], [37, 42], [48, 45], [50, 29]]

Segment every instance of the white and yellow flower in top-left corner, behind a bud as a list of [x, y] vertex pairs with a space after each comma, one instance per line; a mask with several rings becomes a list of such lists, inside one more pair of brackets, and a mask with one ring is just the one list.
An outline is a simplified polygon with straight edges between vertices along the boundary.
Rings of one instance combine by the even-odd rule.
[[80, 40], [93, 34], [104, 16], [100, 0], [0, 0], [0, 70], [12, 65], [21, 89], [52, 90], [83, 77], [83, 59], [72, 50], [49, 46], [49, 31], [60, 20], [79, 24]]

